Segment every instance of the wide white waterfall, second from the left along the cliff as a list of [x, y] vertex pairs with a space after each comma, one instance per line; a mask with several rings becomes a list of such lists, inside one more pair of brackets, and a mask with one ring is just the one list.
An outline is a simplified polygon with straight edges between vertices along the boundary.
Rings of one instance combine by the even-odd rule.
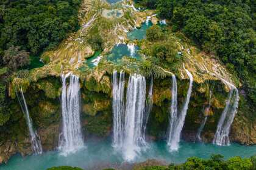
[[[66, 79], [70, 76], [69, 87]], [[80, 83], [73, 74], [62, 74], [62, 134], [59, 148], [64, 155], [76, 152], [84, 146], [80, 125]]]

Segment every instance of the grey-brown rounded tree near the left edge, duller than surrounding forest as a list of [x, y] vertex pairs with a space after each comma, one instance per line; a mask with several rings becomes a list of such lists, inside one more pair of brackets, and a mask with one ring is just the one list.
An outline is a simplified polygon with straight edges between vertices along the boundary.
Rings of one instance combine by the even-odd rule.
[[29, 52], [20, 50], [19, 46], [11, 46], [4, 51], [4, 64], [12, 71], [17, 71], [18, 68], [29, 65]]

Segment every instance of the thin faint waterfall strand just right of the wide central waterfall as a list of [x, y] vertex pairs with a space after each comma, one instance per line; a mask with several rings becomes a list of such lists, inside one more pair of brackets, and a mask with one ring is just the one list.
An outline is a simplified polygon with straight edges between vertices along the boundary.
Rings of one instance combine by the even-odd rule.
[[142, 133], [144, 140], [146, 140], [146, 129], [147, 129], [149, 115], [152, 111], [152, 107], [153, 107], [153, 77], [151, 77], [149, 94], [148, 94], [148, 98], [146, 99], [146, 108], [145, 108], [145, 114], [144, 114], [144, 120], [143, 120], [143, 133]]

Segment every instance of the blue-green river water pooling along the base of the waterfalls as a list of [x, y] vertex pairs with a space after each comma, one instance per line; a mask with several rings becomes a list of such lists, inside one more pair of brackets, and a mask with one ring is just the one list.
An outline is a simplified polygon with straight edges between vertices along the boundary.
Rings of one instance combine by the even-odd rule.
[[[67, 157], [59, 152], [46, 152], [43, 155], [30, 155], [21, 157], [15, 155], [7, 165], [0, 166], [1, 170], [36, 170], [47, 169], [52, 166], [78, 166], [84, 169], [117, 168], [124, 163], [121, 153], [115, 152], [110, 141], [93, 142], [87, 141], [86, 148]], [[165, 160], [167, 163], [182, 163], [188, 157], [209, 158], [212, 154], [221, 154], [225, 158], [234, 156], [250, 157], [256, 154], [256, 146], [241, 146], [232, 144], [231, 146], [215, 146], [203, 143], [180, 143], [179, 151], [168, 152], [164, 141], [151, 143], [148, 150], [142, 152], [135, 158], [135, 162], [148, 159]]]

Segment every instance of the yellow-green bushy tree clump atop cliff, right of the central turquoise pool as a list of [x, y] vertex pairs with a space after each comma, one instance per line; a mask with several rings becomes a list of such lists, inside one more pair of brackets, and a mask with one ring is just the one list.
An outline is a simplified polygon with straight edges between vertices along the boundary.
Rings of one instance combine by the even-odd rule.
[[[150, 27], [146, 39], [140, 41], [141, 53], [146, 60], [140, 62], [140, 71], [146, 77], [165, 77], [163, 68], [177, 72], [182, 63], [182, 54], [178, 54], [177, 44], [172, 40], [172, 32], [158, 25]], [[146, 47], [146, 48], [145, 48]]]

